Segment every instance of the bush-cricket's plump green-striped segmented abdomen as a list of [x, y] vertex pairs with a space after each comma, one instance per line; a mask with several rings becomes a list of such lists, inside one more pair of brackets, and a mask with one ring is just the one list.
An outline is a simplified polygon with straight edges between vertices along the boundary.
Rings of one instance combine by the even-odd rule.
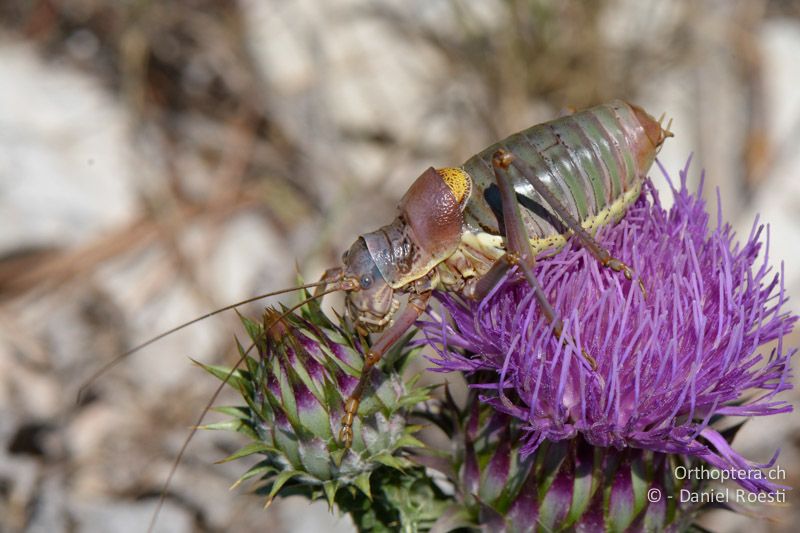
[[[621, 101], [514, 134], [462, 167], [473, 181], [464, 209], [466, 233], [503, 234], [500, 194], [492, 169], [492, 155], [500, 148], [527, 163], [572, 218], [595, 229], [621, 217], [636, 200], [655, 157], [650, 147], [633, 108]], [[513, 168], [511, 175], [534, 248], [563, 244], [567, 231], [561, 220], [525, 177]]]

